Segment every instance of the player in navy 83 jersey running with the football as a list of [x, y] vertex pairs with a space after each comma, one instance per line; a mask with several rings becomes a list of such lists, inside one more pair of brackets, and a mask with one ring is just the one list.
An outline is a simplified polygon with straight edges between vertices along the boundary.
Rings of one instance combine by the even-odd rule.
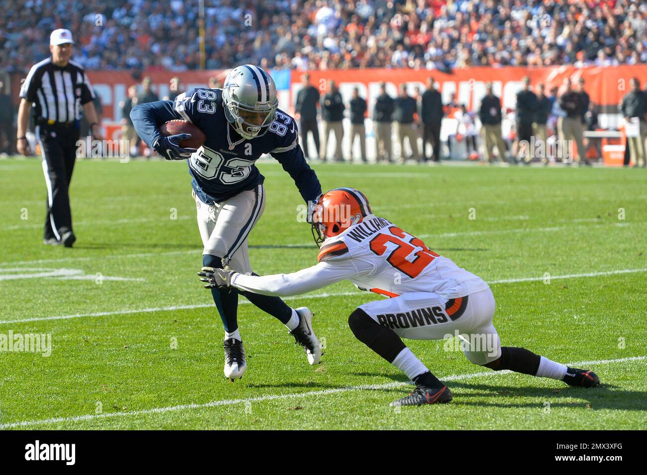
[[[188, 162], [204, 244], [203, 266], [252, 274], [247, 238], [265, 209], [265, 177], [254, 164], [261, 154], [269, 153], [283, 165], [309, 206], [322, 193], [303, 157], [294, 119], [278, 109], [276, 85], [259, 67], [236, 67], [223, 89], [193, 89], [174, 101], [140, 104], [130, 116], [139, 136], [157, 153]], [[177, 119], [204, 132], [206, 140], [199, 149], [179, 145], [189, 134], [160, 134], [160, 125]], [[225, 377], [234, 381], [247, 369], [237, 322], [239, 293], [283, 322], [305, 348], [309, 363], [319, 363], [322, 350], [308, 308], [290, 308], [279, 297], [214, 288], [215, 306], [225, 326]]]

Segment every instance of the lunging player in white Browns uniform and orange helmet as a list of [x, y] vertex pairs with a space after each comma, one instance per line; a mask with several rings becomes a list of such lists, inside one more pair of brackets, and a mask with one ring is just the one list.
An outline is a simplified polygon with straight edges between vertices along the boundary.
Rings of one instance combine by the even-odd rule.
[[360, 305], [348, 324], [355, 337], [399, 368], [416, 385], [391, 405], [446, 403], [452, 393], [402, 343], [459, 335], [467, 359], [492, 370], [559, 379], [571, 386], [600, 381], [589, 370], [569, 368], [525, 348], [503, 346], [492, 325], [495, 302], [488, 284], [419, 238], [373, 215], [360, 191], [337, 188], [321, 195], [313, 211], [318, 264], [291, 274], [262, 277], [204, 267], [206, 288], [232, 287], [263, 295], [298, 295], [349, 279], [362, 290], [390, 297]]

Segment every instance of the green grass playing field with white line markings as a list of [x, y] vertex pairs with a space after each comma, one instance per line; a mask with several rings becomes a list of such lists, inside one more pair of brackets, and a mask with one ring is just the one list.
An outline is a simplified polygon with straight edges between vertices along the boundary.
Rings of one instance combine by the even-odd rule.
[[[186, 164], [77, 162], [78, 240], [65, 249], [42, 244], [40, 160], [0, 160], [0, 334], [52, 335], [49, 357], [0, 352], [0, 428], [646, 427], [644, 170], [313, 167], [323, 189], [361, 189], [377, 215], [490, 282], [504, 346], [592, 369], [602, 386], [495, 373], [442, 341], [408, 341], [454, 401], [397, 411], [389, 403], [408, 392], [406, 377], [347, 326], [381, 297], [349, 282], [287, 299], [316, 313], [316, 367], [241, 297], [248, 369], [230, 383], [221, 322], [195, 275], [202, 244]], [[259, 168], [267, 207], [250, 237], [255, 271], [313, 265], [294, 183], [274, 162]]]

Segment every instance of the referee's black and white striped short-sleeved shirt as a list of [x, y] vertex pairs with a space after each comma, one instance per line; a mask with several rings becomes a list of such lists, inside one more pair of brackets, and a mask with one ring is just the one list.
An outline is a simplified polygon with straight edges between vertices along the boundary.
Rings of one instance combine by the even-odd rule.
[[32, 66], [20, 89], [20, 97], [34, 103], [37, 121], [72, 122], [80, 119], [80, 105], [94, 99], [94, 91], [83, 67], [69, 61], [59, 67], [52, 58]]

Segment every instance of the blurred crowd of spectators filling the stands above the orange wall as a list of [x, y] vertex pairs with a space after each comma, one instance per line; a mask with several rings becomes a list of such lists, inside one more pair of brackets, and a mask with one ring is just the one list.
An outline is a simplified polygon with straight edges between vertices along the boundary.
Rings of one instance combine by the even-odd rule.
[[[205, 0], [206, 69], [647, 63], [642, 0]], [[69, 28], [86, 69], [199, 69], [198, 1], [0, 0], [0, 70]]]

